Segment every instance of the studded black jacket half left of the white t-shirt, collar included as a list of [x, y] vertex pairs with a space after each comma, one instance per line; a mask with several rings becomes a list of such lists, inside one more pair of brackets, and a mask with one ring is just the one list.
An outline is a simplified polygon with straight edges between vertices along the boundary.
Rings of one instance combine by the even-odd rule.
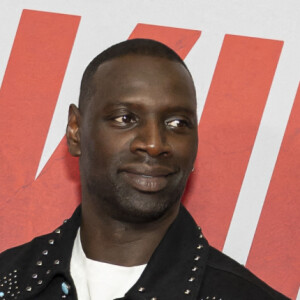
[[[2, 298], [4, 296], [6, 299], [6, 295], [14, 299], [57, 298], [53, 295], [61, 292], [58, 279], [62, 280], [62, 276], [69, 278], [70, 258], [79, 226], [80, 206], [69, 220], [65, 220], [53, 232], [1, 253]], [[49, 289], [54, 287], [52, 295]], [[47, 297], [43, 292], [46, 290]]]

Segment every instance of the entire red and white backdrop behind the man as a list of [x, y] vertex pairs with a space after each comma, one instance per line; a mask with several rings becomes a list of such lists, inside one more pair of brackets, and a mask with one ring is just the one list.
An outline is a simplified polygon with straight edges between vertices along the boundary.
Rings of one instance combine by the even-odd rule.
[[299, 16], [298, 0], [2, 0], [0, 250], [80, 202], [64, 132], [87, 63], [153, 38], [185, 59], [198, 94], [184, 204], [212, 245], [300, 299]]

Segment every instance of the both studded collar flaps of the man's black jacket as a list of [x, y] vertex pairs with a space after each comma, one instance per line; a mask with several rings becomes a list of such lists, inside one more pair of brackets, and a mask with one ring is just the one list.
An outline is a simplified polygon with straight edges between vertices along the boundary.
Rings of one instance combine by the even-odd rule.
[[[38, 253], [23, 267], [22, 299], [46, 289], [56, 276], [70, 284], [70, 260], [81, 222], [81, 207], [51, 234], [35, 239], [27, 251]], [[176, 220], [153, 253], [137, 283], [126, 293], [132, 300], [197, 298], [208, 257], [208, 243], [187, 210], [181, 206]], [[29, 255], [28, 255], [29, 256]], [[21, 275], [21, 274], [20, 274]], [[21, 296], [21, 295], [20, 295]]]

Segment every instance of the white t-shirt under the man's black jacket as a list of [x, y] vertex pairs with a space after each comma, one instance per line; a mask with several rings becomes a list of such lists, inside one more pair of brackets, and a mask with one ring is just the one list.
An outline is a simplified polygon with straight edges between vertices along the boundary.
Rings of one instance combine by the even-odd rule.
[[124, 297], [146, 265], [123, 267], [86, 257], [78, 230], [71, 257], [71, 276], [79, 300], [112, 300]]

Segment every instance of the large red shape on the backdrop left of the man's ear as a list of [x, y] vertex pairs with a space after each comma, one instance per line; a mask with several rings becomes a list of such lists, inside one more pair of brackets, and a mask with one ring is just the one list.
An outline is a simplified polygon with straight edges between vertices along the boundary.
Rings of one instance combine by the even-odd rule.
[[76, 201], [77, 184], [65, 187], [66, 180], [59, 181], [68, 173], [58, 163], [63, 146], [36, 181], [35, 174], [79, 21], [22, 13], [0, 91], [0, 251], [49, 231]]

